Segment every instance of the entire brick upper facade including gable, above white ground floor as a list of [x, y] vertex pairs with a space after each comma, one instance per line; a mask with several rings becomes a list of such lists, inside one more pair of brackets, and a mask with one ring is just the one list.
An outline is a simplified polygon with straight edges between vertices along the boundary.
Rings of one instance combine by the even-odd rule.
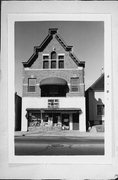
[[[37, 53], [37, 58], [28, 68], [23, 68], [23, 97], [40, 97], [40, 82], [47, 77], [59, 77], [67, 81], [69, 92], [66, 96], [84, 96], [84, 67], [79, 67], [70, 57], [70, 52], [66, 51], [53, 35], [53, 39], [46, 45], [43, 52]], [[64, 55], [64, 69], [43, 69], [43, 55], [49, 55], [55, 49], [58, 55]], [[57, 60], [58, 63], [58, 60]], [[78, 92], [70, 91], [70, 79], [79, 77]], [[36, 78], [36, 91], [28, 92], [28, 78]]]

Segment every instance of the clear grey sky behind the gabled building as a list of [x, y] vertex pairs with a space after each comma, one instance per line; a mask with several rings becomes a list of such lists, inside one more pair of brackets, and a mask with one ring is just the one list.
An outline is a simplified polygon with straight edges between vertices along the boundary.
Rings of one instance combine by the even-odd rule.
[[85, 89], [101, 75], [104, 67], [104, 22], [102, 21], [40, 21], [15, 23], [15, 91], [22, 96], [22, 62], [32, 56], [48, 35], [49, 28], [58, 33], [73, 53], [85, 61]]

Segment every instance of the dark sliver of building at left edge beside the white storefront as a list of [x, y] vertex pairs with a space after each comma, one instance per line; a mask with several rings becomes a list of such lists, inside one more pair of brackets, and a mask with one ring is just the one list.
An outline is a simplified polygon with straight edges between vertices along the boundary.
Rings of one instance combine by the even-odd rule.
[[15, 131], [21, 131], [22, 98], [15, 93]]

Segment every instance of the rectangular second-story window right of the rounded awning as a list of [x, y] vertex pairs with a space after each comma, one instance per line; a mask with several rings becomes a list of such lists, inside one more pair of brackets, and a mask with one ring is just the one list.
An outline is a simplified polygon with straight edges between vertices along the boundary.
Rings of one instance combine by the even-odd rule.
[[71, 92], [79, 91], [79, 77], [72, 77], [70, 79]]

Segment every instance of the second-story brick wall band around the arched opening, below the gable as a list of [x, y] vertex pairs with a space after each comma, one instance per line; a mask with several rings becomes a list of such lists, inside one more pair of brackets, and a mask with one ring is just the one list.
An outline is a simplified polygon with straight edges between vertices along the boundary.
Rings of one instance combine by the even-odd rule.
[[[84, 77], [83, 70], [24, 70], [24, 79], [23, 79], [23, 97], [26, 96], [40, 96], [40, 82], [41, 80], [47, 77], [59, 77], [67, 81], [68, 86], [70, 87], [70, 78], [79, 77], [79, 91], [73, 93], [70, 91], [67, 93], [67, 96], [84, 96]], [[28, 78], [36, 78], [36, 91], [31, 93], [28, 92]]]

